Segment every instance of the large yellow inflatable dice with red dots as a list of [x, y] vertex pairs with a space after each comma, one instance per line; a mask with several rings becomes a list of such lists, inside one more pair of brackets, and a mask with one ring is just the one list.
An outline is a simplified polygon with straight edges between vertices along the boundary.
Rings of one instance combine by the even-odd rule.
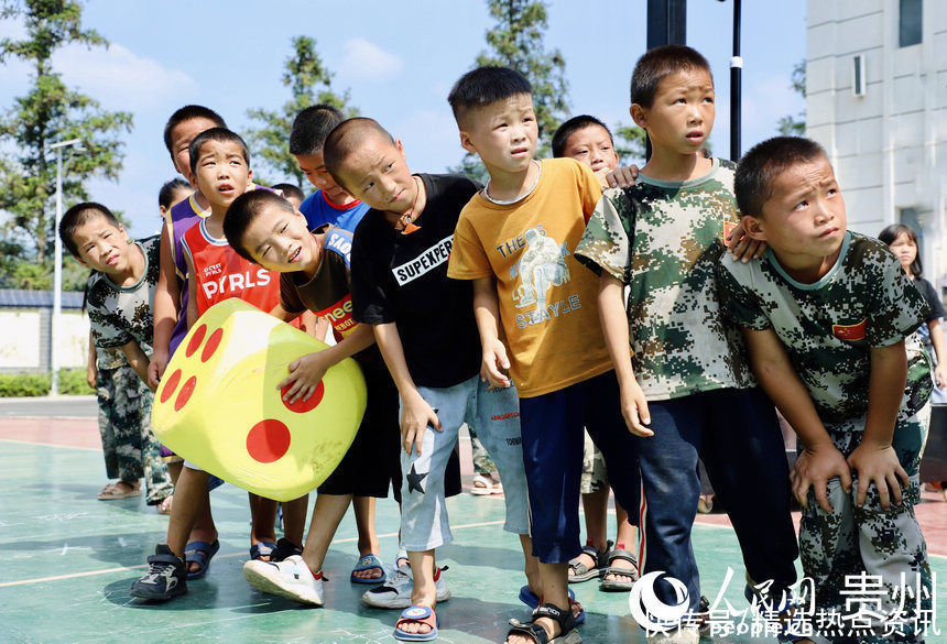
[[237, 298], [208, 308], [167, 364], [152, 425], [164, 445], [244, 490], [290, 501], [341, 461], [364, 414], [361, 369], [347, 358], [309, 400], [276, 385], [291, 362], [328, 345]]

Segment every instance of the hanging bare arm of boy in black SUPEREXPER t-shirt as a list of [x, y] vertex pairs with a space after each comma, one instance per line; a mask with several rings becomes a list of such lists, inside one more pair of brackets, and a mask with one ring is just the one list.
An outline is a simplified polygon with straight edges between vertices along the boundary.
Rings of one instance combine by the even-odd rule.
[[401, 396], [401, 445], [405, 454], [411, 455], [412, 448], [415, 448], [420, 455], [424, 432], [428, 425], [440, 432], [440, 418], [437, 417], [437, 411], [422, 397], [411, 378], [395, 323], [373, 327], [378, 348], [381, 349], [381, 356]]

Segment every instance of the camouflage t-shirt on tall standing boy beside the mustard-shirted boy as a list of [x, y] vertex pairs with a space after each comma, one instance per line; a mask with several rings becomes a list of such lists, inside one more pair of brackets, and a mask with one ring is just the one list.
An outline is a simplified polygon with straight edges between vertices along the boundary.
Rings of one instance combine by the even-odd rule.
[[754, 384], [739, 329], [720, 315], [715, 265], [736, 225], [733, 170], [685, 182], [639, 175], [606, 190], [576, 249], [578, 260], [629, 286], [634, 374], [651, 401]]

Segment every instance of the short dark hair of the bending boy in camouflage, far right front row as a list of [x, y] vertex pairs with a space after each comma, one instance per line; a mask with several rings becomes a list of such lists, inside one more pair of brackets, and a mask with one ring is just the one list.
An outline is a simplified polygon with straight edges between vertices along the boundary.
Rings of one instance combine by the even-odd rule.
[[756, 143], [740, 160], [733, 192], [741, 215], [763, 216], [763, 205], [773, 196], [775, 178], [799, 163], [828, 159], [821, 145], [805, 137], [773, 137]]

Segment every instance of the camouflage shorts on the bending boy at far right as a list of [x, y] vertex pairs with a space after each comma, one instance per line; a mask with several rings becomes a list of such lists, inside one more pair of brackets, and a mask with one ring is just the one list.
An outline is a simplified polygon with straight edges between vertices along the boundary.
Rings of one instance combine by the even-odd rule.
[[[856, 634], [851, 626], [858, 618], [840, 620], [846, 629], [816, 629], [832, 642], [923, 642], [915, 632], [915, 620], [930, 611], [930, 567], [914, 504], [919, 499], [917, 465], [929, 418], [929, 405], [913, 416], [899, 415], [897, 452], [911, 477], [911, 487], [902, 491], [902, 505], [892, 503], [889, 510], [882, 509], [878, 488], [872, 484], [859, 507], [855, 503], [857, 478], [848, 493], [838, 478], [828, 482], [831, 513], [818, 505], [809, 490], [809, 509], [803, 511], [799, 522], [799, 550], [803, 570], [813, 582], [816, 612], [850, 615], [860, 609], [884, 615], [883, 624], [882, 618], [877, 618], [870, 623], [873, 630], [867, 624], [864, 632]], [[836, 446], [848, 455], [858, 444], [851, 440], [850, 430], [860, 432], [863, 426], [862, 419], [827, 429]], [[922, 589], [921, 597], [907, 598], [905, 589]]]

